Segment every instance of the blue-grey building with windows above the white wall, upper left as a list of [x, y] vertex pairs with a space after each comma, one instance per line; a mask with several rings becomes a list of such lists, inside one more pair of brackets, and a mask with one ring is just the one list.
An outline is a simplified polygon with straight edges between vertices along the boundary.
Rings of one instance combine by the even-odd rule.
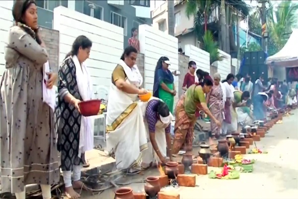
[[122, 27], [124, 48], [133, 27], [152, 23], [150, 0], [36, 0], [36, 4], [41, 27], [53, 28], [53, 10], [62, 5]]

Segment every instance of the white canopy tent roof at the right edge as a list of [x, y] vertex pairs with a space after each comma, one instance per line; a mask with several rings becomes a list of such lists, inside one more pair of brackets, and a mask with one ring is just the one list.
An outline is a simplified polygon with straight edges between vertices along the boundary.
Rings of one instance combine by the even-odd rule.
[[266, 59], [270, 66], [298, 67], [298, 29], [294, 29], [286, 45], [276, 54]]

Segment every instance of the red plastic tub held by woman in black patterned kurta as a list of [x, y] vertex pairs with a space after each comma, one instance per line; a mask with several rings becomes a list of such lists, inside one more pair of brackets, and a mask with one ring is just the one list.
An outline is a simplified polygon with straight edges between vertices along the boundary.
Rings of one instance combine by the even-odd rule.
[[78, 103], [80, 113], [87, 117], [97, 115], [99, 112], [101, 100], [85, 100]]

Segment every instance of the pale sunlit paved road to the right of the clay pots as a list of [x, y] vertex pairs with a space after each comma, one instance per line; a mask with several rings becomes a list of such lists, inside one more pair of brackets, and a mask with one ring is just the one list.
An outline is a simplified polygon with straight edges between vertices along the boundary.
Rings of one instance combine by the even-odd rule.
[[[257, 146], [268, 154], [245, 155], [256, 159], [254, 172], [241, 174], [238, 180], [214, 180], [197, 177], [197, 187], [180, 187], [180, 199], [298, 199], [298, 110], [284, 117], [283, 124], [276, 124]], [[157, 175], [156, 171], [144, 176]], [[142, 191], [143, 184], [132, 184], [135, 191]], [[82, 196], [98, 199], [98, 196]], [[105, 191], [100, 198], [112, 199], [113, 190]]]

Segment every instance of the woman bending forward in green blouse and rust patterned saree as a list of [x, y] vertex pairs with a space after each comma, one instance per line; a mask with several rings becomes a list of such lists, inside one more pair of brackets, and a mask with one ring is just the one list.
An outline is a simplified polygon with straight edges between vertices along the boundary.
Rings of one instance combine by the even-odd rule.
[[194, 125], [197, 120], [195, 112], [198, 108], [204, 110], [217, 126], [221, 127], [221, 122], [210, 112], [206, 103], [205, 94], [210, 92], [212, 86], [213, 83], [209, 79], [204, 80], [201, 85], [192, 85], [177, 102], [172, 154], [177, 154], [179, 150], [192, 151]]

